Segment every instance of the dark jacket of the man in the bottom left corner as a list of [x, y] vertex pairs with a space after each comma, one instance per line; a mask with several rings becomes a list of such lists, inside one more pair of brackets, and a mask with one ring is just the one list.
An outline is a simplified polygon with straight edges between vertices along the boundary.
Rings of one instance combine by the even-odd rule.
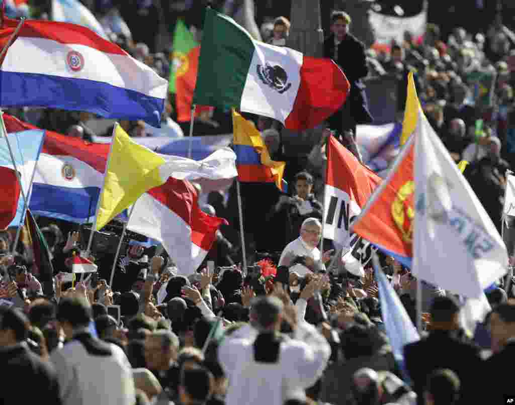
[[[52, 364], [24, 345], [0, 349], [2, 403], [60, 404], [59, 385]], [[27, 389], [29, 388], [29, 389]]]

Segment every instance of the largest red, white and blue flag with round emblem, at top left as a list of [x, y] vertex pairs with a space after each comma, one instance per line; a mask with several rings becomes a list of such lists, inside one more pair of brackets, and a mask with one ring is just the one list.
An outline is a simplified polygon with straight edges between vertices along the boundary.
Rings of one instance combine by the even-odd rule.
[[[4, 47], [19, 21], [4, 19]], [[36, 62], [35, 62], [36, 61]], [[135, 79], [137, 78], [137, 79]], [[88, 111], [160, 127], [167, 80], [88, 28], [28, 20], [0, 69], [0, 105]]]

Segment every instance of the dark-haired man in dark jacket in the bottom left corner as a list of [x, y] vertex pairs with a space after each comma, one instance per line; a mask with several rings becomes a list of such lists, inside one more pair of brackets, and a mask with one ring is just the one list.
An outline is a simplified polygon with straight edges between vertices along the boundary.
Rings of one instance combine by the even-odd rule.
[[[5, 307], [4, 307], [5, 308]], [[2, 403], [60, 404], [59, 385], [52, 364], [27, 346], [29, 321], [18, 309], [0, 311], [0, 367]], [[24, 389], [24, 386], [30, 389]]]

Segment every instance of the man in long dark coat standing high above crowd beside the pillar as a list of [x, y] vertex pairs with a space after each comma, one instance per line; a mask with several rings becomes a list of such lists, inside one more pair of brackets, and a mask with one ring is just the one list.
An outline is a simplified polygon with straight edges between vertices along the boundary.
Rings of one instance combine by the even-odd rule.
[[361, 81], [368, 74], [365, 46], [349, 33], [350, 23], [350, 15], [343, 11], [331, 14], [333, 33], [324, 41], [324, 57], [334, 60], [351, 84], [347, 101], [329, 118], [330, 127], [338, 132], [350, 130], [355, 136], [356, 124], [370, 124], [373, 118], [368, 110], [365, 85]]

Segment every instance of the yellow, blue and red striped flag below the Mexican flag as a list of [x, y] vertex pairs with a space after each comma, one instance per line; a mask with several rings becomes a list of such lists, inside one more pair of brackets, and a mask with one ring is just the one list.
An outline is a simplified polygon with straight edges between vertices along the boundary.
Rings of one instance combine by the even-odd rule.
[[286, 163], [271, 160], [260, 132], [236, 111], [232, 113], [232, 122], [238, 180], [276, 183], [277, 188], [285, 191], [283, 173]]

